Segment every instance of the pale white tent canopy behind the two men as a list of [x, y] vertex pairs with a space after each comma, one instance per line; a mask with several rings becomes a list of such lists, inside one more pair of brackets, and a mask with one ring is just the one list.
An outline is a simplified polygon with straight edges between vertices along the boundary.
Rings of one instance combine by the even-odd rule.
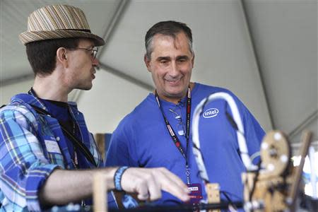
[[81, 8], [106, 40], [93, 89], [70, 98], [93, 133], [111, 133], [152, 91], [144, 36], [158, 21], [178, 20], [192, 28], [192, 81], [232, 90], [266, 131], [280, 129], [298, 143], [302, 129], [310, 129], [318, 140], [317, 1], [1, 0], [1, 104], [32, 86], [18, 35], [28, 15], [47, 4]]

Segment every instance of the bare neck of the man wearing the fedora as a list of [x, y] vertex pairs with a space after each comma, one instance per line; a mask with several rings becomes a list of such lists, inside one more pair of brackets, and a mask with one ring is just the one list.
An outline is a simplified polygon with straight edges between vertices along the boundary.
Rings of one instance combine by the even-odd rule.
[[54, 76], [35, 76], [33, 90], [38, 98], [45, 100], [54, 100], [59, 102], [67, 102], [68, 95], [71, 90], [67, 90], [61, 85], [61, 81]]

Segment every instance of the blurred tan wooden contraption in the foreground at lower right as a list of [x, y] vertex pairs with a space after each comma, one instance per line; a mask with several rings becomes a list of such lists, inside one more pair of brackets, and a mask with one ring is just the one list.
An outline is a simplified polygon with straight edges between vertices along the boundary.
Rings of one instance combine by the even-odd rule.
[[[304, 135], [302, 160], [305, 160], [310, 145], [310, 132]], [[303, 163], [294, 169], [290, 157], [289, 142], [281, 131], [266, 134], [261, 143], [261, 167], [264, 170], [242, 174], [245, 211], [294, 211]]]

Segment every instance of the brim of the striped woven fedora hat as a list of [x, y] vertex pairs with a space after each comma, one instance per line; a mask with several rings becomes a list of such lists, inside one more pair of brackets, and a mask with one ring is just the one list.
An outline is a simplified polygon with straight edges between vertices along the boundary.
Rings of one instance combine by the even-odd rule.
[[86, 33], [78, 30], [54, 30], [54, 31], [26, 31], [19, 35], [20, 41], [23, 45], [28, 44], [29, 42], [35, 42], [40, 40], [52, 40], [60, 38], [69, 38], [69, 37], [83, 37], [93, 39], [96, 47], [105, 45], [105, 41], [102, 37], [94, 35], [92, 33]]

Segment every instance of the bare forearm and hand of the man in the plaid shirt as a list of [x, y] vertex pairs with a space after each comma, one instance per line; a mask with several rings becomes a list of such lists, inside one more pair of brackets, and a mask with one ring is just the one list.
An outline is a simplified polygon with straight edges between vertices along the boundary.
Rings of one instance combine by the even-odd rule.
[[[118, 167], [95, 170], [54, 170], [39, 191], [41, 206], [64, 205], [86, 199], [93, 194], [93, 176], [105, 176], [107, 189], [114, 189], [114, 173]], [[161, 190], [182, 201], [189, 201], [187, 186], [167, 169], [129, 167], [122, 175], [122, 189], [138, 194], [140, 200], [161, 197]]]

